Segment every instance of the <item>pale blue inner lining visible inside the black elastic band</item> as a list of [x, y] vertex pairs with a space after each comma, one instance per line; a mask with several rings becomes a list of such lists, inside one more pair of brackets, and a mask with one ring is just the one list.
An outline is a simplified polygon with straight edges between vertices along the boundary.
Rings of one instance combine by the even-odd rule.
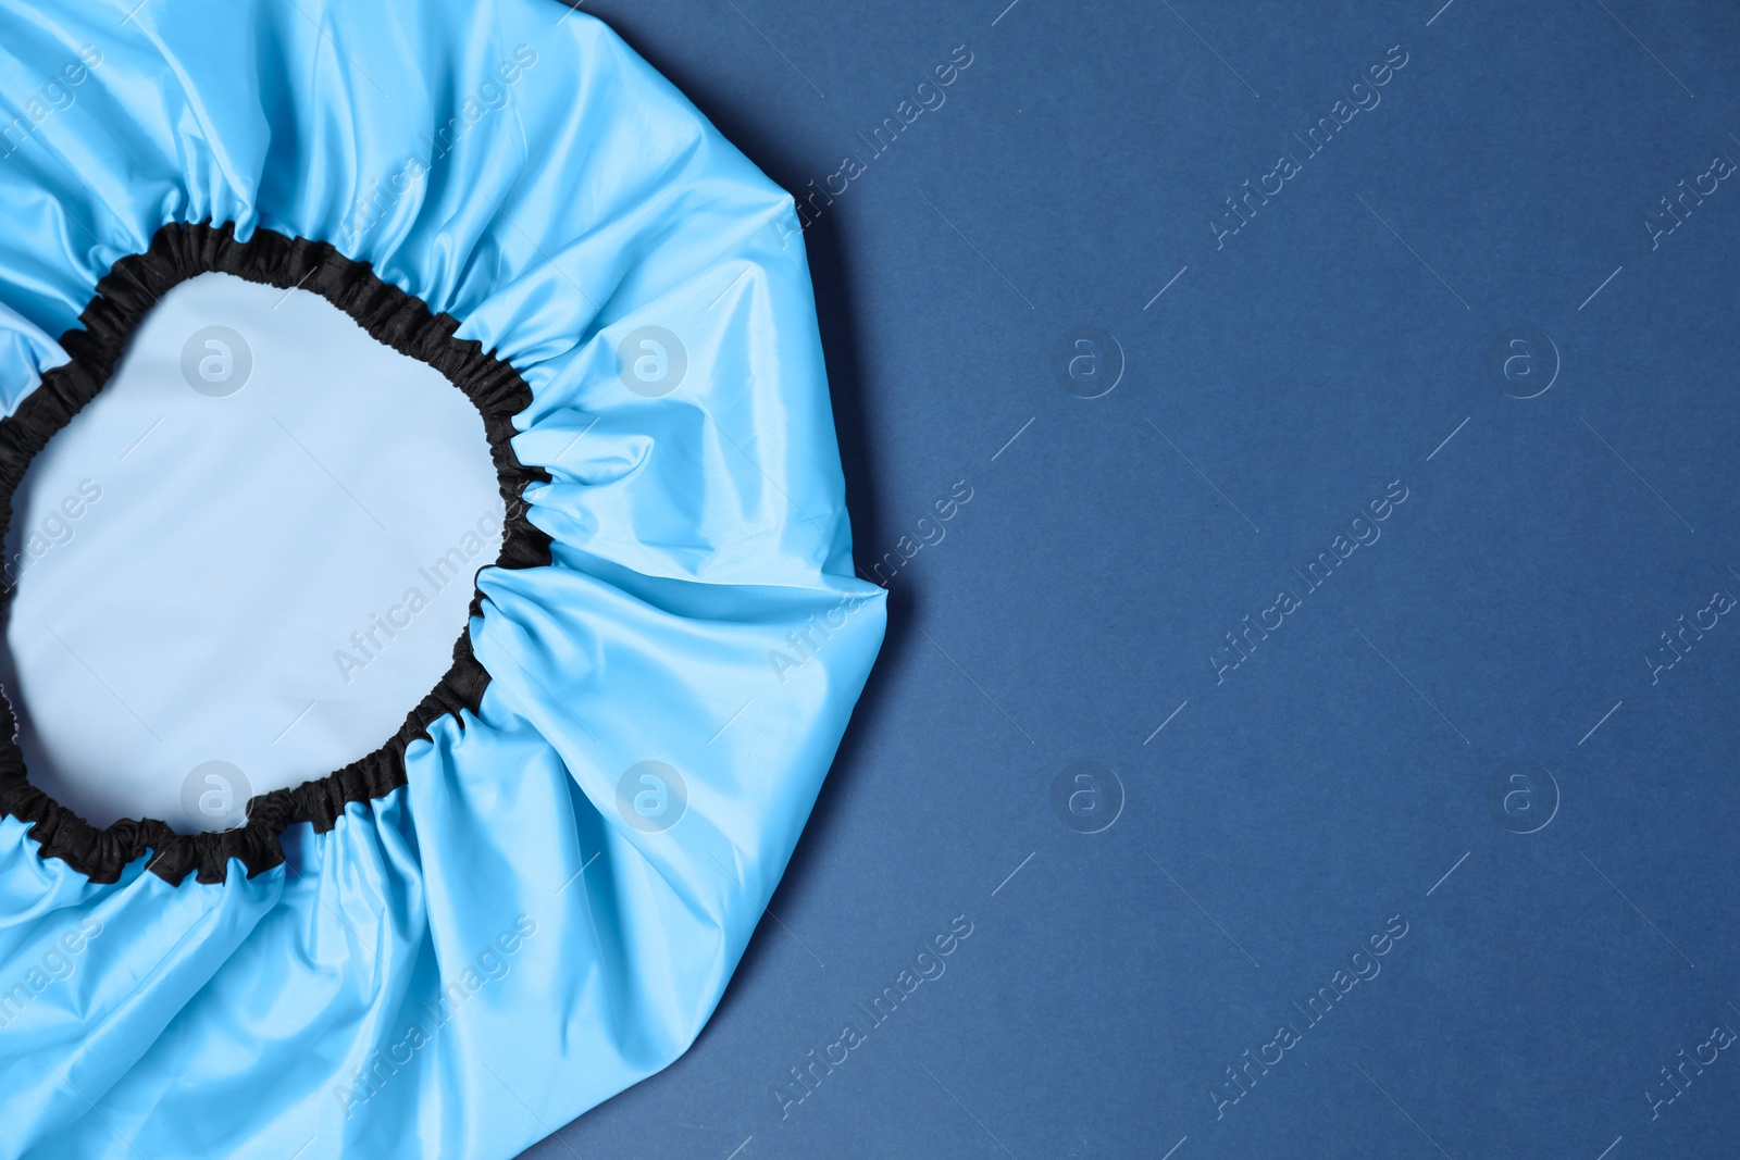
[[364, 757], [452, 663], [501, 515], [484, 423], [433, 367], [311, 292], [184, 282], [19, 489], [31, 779], [186, 833], [238, 819], [190, 809], [205, 762], [264, 793]]

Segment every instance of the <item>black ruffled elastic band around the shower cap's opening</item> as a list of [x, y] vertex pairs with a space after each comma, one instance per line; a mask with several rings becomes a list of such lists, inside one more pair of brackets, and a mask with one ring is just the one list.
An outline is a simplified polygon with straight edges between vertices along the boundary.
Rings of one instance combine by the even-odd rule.
[[[456, 339], [456, 318], [437, 315], [423, 301], [381, 282], [367, 263], [351, 261], [325, 242], [270, 230], [256, 230], [249, 242], [237, 242], [233, 223], [164, 226], [144, 254], [120, 259], [97, 282], [96, 297], [78, 317], [80, 329], [61, 336], [71, 362], [44, 374], [17, 412], [0, 419], [0, 529], [12, 522], [12, 496], [30, 461], [103, 390], [151, 306], [181, 282], [212, 271], [311, 290], [355, 318], [376, 341], [447, 376], [484, 417], [506, 504], [496, 567], [550, 563], [550, 537], [525, 518], [520, 499], [529, 483], [550, 477], [543, 468], [520, 463], [510, 443], [513, 416], [532, 402], [519, 372], [482, 344]], [[0, 626], [10, 600], [12, 590], [0, 590]], [[473, 591], [472, 616], [478, 614], [480, 602], [482, 591]], [[428, 737], [430, 725], [442, 717], [463, 727], [459, 711], [475, 715], [487, 685], [489, 673], [472, 654], [466, 630], [454, 645], [452, 668], [386, 744], [325, 777], [251, 798], [245, 826], [195, 835], [176, 833], [164, 821], [130, 817], [99, 830], [30, 784], [17, 746], [17, 718], [0, 696], [0, 816], [26, 823], [42, 857], [57, 857], [92, 882], [118, 882], [122, 870], [146, 854], [153, 854], [148, 870], [177, 885], [188, 871], [198, 871], [198, 882], [223, 882], [233, 857], [254, 877], [284, 861], [278, 838], [289, 826], [306, 821], [324, 833], [351, 802], [379, 798], [405, 784], [405, 746]]]

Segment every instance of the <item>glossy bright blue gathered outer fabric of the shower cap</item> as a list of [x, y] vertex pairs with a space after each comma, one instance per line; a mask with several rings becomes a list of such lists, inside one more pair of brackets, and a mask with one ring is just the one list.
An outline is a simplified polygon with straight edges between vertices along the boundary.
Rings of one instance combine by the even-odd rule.
[[882, 638], [792, 200], [553, 0], [134, 3], [0, 0], [0, 402], [164, 226], [327, 242], [524, 377], [550, 563], [252, 877], [0, 817], [0, 1157], [512, 1157], [694, 1040]]

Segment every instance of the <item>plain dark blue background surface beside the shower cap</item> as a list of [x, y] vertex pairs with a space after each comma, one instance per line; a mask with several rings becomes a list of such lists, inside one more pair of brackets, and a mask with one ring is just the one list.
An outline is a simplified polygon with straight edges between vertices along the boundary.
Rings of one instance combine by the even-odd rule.
[[[527, 1155], [1737, 1155], [1737, 1052], [1655, 1118], [1646, 1092], [1740, 1030], [1740, 617], [1646, 657], [1740, 595], [1740, 188], [1656, 249], [1644, 223], [1740, 158], [1740, 12], [1006, 2], [585, 7], [793, 193], [966, 45], [806, 238], [860, 567], [973, 499], [889, 584], [712, 1024]], [[1115, 343], [1094, 390], [1124, 363], [1100, 398], [1053, 365], [1081, 327]], [[1302, 605], [1216, 683], [1281, 588]], [[1126, 797], [1091, 835], [1051, 797], [1084, 760]], [[957, 915], [947, 974], [783, 1106]]]

